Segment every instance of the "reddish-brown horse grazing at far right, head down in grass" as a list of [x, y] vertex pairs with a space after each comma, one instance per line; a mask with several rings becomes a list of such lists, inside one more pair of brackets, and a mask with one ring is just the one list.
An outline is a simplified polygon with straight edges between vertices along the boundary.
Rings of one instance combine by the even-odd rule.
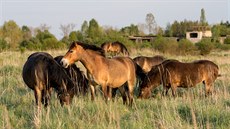
[[140, 96], [147, 98], [150, 90], [161, 83], [163, 84], [163, 95], [167, 95], [171, 88], [172, 95], [175, 96], [177, 87], [191, 88], [201, 82], [205, 85], [205, 96], [207, 96], [211, 94], [212, 85], [220, 76], [218, 72], [218, 65], [209, 60], [197, 60], [190, 63], [166, 61], [148, 73], [150, 81], [141, 86]]

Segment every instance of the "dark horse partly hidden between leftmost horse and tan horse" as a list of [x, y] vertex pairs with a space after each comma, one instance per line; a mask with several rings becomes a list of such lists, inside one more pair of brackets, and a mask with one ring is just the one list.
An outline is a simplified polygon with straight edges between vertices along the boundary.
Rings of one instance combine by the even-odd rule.
[[[63, 58], [63, 56], [56, 56], [54, 58], [54, 60], [61, 65], [60, 61]], [[76, 84], [75, 87], [71, 87], [71, 89], [69, 89], [68, 91], [74, 91], [73, 93], [77, 96], [79, 96], [80, 94], [85, 96], [87, 91], [88, 91], [88, 80], [85, 77], [85, 75], [83, 74], [83, 72], [75, 65], [72, 64], [67, 68], [64, 68], [67, 75], [70, 77], [70, 79]], [[72, 92], [70, 92], [70, 96], [72, 96], [71, 94]]]

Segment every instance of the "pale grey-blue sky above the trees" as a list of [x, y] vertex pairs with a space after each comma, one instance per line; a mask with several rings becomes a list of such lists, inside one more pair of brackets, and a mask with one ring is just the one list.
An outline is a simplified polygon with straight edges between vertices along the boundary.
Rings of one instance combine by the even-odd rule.
[[230, 0], [0, 0], [0, 26], [9, 20], [20, 27], [47, 24], [61, 38], [61, 24], [73, 23], [79, 30], [94, 18], [100, 26], [120, 29], [145, 23], [146, 14], [152, 13], [165, 28], [175, 20], [199, 21], [202, 8], [209, 24], [230, 21]]

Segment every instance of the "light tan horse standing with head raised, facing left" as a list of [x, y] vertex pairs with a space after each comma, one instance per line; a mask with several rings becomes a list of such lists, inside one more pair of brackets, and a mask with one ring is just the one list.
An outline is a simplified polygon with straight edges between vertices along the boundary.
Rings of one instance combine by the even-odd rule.
[[[111, 88], [121, 87], [127, 83], [129, 105], [133, 102], [133, 90], [136, 83], [136, 66], [129, 57], [105, 57], [104, 50], [94, 45], [81, 42], [73, 42], [62, 58], [63, 67], [68, 67], [76, 61], [80, 61], [87, 69], [87, 76], [91, 83], [91, 98], [94, 100], [94, 86], [102, 87], [105, 100], [111, 97]], [[109, 87], [109, 90], [107, 89]], [[109, 93], [109, 94], [108, 94]], [[126, 103], [124, 100], [124, 103]]]

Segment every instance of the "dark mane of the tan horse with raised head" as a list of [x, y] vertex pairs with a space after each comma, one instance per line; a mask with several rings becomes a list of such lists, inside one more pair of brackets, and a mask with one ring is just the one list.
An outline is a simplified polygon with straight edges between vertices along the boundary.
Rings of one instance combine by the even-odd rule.
[[70, 49], [74, 48], [75, 44], [82, 46], [84, 49], [90, 49], [90, 50], [96, 51], [101, 56], [105, 56], [105, 51], [102, 48], [97, 47], [96, 45], [90, 45], [90, 44], [86, 44], [82, 42], [73, 42], [70, 46]]

